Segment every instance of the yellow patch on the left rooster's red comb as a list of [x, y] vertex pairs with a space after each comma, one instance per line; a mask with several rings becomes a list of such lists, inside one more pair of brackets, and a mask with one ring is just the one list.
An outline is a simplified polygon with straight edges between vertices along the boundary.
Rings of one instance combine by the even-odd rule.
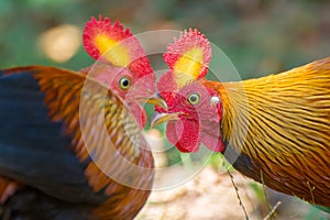
[[95, 38], [96, 46], [111, 64], [127, 67], [131, 63], [129, 50], [120, 42], [114, 41], [106, 34], [99, 34]]

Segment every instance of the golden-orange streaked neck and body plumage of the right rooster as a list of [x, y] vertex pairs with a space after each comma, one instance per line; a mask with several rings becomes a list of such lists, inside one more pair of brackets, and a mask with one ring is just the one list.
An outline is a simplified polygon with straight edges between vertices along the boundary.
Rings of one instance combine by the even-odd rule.
[[251, 162], [246, 168], [239, 157], [240, 172], [330, 207], [330, 57], [258, 79], [205, 85], [223, 102], [223, 140]]

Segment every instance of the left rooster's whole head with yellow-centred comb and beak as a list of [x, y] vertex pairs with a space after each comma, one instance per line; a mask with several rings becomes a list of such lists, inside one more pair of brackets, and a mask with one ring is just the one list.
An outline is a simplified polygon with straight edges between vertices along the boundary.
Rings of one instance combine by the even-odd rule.
[[140, 42], [129, 29], [101, 15], [91, 18], [84, 30], [84, 47], [97, 62], [84, 69], [106, 84], [129, 106], [138, 122], [144, 127], [145, 113], [140, 102], [164, 106], [155, 94], [156, 77]]

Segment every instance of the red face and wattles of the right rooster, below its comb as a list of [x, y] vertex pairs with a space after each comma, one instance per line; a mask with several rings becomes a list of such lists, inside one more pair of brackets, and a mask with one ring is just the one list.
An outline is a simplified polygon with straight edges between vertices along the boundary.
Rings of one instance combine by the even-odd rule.
[[[157, 86], [160, 94], [167, 102], [168, 110], [156, 107], [156, 111], [179, 113], [177, 121], [167, 123], [168, 141], [182, 152], [197, 152], [201, 143], [213, 152], [222, 152], [224, 150], [220, 133], [222, 105], [221, 101], [217, 105], [210, 102], [211, 97], [219, 97], [219, 95], [204, 87], [202, 79], [183, 87], [179, 91], [164, 90], [165, 82], [166, 85], [168, 82], [163, 79], [168, 79], [170, 74], [166, 75], [161, 78]], [[197, 105], [188, 101], [191, 94], [199, 95], [200, 101]]]

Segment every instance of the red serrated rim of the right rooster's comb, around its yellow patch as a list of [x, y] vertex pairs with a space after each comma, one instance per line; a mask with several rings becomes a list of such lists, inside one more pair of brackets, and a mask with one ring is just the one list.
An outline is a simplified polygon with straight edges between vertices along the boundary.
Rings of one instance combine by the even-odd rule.
[[209, 41], [197, 29], [189, 29], [188, 32], [182, 33], [180, 38], [175, 40], [173, 44], [167, 46], [167, 53], [163, 55], [163, 58], [169, 68], [174, 69], [177, 61], [191, 48], [198, 48], [202, 53], [202, 67], [198, 78], [204, 77], [207, 74], [211, 59], [211, 47]]

